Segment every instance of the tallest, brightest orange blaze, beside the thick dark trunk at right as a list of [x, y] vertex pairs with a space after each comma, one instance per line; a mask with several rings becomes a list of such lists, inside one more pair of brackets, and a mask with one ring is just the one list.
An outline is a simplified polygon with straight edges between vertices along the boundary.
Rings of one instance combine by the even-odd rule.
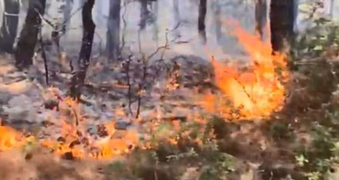
[[245, 70], [240, 70], [235, 63], [223, 65], [212, 57], [222, 97], [206, 95], [204, 107], [226, 117], [267, 117], [284, 102], [285, 88], [281, 80], [288, 76], [285, 55], [272, 54], [270, 42], [263, 42], [259, 36], [240, 27], [235, 28], [233, 34], [247, 51], [250, 62]]

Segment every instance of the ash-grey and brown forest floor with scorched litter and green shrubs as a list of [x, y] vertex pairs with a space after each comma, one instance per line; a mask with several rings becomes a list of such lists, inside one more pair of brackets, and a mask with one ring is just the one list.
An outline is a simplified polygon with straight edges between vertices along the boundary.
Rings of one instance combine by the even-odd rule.
[[[81, 101], [75, 103], [67, 99], [71, 71], [62, 59], [48, 64], [47, 88], [42, 60], [22, 72], [10, 56], [1, 57], [0, 127], [13, 127], [39, 142], [1, 152], [1, 179], [338, 176], [332, 151], [339, 136], [333, 130], [338, 125], [336, 62], [313, 61], [291, 72], [284, 107], [268, 119], [232, 121], [201, 107], [206, 92], [218, 91], [210, 61], [196, 56], [138, 59], [92, 59]], [[107, 138], [113, 143], [108, 150], [94, 148]], [[83, 157], [88, 154], [94, 158]], [[318, 166], [318, 161], [327, 164]]]

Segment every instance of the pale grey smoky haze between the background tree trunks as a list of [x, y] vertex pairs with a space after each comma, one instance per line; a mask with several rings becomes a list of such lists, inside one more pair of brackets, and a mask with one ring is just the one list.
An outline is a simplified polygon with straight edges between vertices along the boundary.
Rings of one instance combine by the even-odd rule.
[[[81, 47], [82, 21], [81, 6], [84, 0], [47, 0], [45, 18], [52, 23], [65, 21], [65, 16], [71, 16], [67, 23], [67, 31], [61, 37], [60, 44], [64, 52], [69, 56], [76, 57]], [[325, 2], [324, 14], [331, 14], [328, 3]], [[266, 2], [269, 7], [269, 1]], [[299, 0], [299, 9], [305, 4], [312, 2]], [[3, 2], [0, 3], [3, 6]], [[339, 3], [333, 6], [332, 18], [338, 19]], [[26, 16], [27, 1], [21, 4], [19, 29], [21, 31]], [[197, 55], [207, 58], [208, 53], [213, 53], [217, 58], [226, 57], [225, 54], [242, 57], [245, 55], [243, 49], [238, 45], [237, 39], [230, 35], [232, 27], [225, 23], [234, 19], [240, 23], [242, 28], [249, 32], [255, 32], [255, 1], [254, 0], [208, 0], [206, 13], [206, 39], [202, 45], [198, 34], [198, 0], [157, 0], [147, 3], [147, 16], [145, 27], [140, 27], [141, 20], [140, 1], [122, 0], [120, 11], [120, 41], [124, 38], [125, 52], [139, 52], [139, 46], [144, 53], [152, 53], [157, 47], [166, 42], [166, 31], [168, 41], [177, 40], [180, 44], [171, 44], [166, 56], [183, 54]], [[0, 8], [3, 11], [3, 8]], [[68, 12], [68, 14], [67, 14]], [[268, 15], [267, 11], [267, 15]], [[0, 14], [2, 14], [0, 12]], [[98, 0], [93, 10], [96, 32], [93, 44], [93, 55], [104, 53], [106, 48], [107, 20], [109, 16], [109, 0]], [[304, 16], [298, 10], [298, 18], [295, 30], [302, 31], [310, 26], [304, 21]], [[2, 18], [0, 18], [0, 21]], [[1, 24], [1, 22], [0, 22]], [[175, 28], [175, 30], [173, 30]], [[140, 30], [142, 29], [142, 30]], [[45, 40], [51, 40], [53, 28], [43, 22], [43, 35]], [[171, 31], [172, 30], [172, 31]], [[20, 33], [18, 33], [19, 35]], [[264, 34], [269, 36], [269, 34]], [[140, 45], [139, 45], [140, 37]], [[53, 47], [52, 47], [53, 48]]]

